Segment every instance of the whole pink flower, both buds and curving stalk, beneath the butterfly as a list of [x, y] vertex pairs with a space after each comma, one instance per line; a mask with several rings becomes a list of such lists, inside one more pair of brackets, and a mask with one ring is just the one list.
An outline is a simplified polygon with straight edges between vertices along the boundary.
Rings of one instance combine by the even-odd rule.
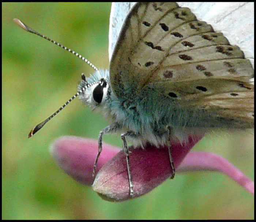
[[[254, 194], [254, 182], [223, 157], [207, 152], [190, 152], [201, 137], [190, 137], [185, 144], [172, 145], [176, 172], [220, 171]], [[129, 147], [134, 197], [150, 192], [171, 175], [167, 146], [157, 148], [148, 144], [145, 149]], [[92, 177], [98, 142], [80, 137], [61, 137], [51, 146], [51, 152], [64, 171], [80, 183], [110, 201], [130, 198], [127, 165], [123, 150], [103, 144], [97, 164], [95, 181]]]

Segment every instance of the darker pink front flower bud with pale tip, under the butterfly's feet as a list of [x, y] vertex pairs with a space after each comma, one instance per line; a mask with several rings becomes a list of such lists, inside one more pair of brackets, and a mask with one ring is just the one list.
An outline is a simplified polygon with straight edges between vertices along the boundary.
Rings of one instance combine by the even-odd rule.
[[[176, 167], [196, 142], [198, 140], [191, 139], [185, 145], [178, 143], [172, 146]], [[121, 150], [101, 168], [94, 180], [93, 190], [103, 199], [120, 202], [142, 196], [172, 175], [167, 146], [157, 148], [148, 145], [145, 149], [130, 147], [129, 152], [133, 196], [130, 196], [127, 164], [125, 154]]]

